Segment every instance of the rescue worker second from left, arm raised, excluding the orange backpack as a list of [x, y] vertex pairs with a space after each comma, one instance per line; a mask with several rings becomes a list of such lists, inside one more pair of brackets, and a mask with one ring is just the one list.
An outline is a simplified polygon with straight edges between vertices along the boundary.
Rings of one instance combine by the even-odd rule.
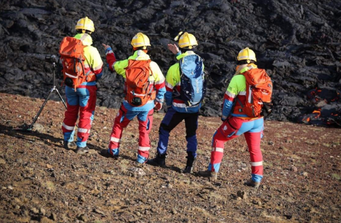
[[[128, 64], [131, 63], [130, 60], [150, 60], [150, 57], [147, 54], [147, 47], [150, 47], [150, 42], [149, 38], [145, 34], [141, 32], [137, 33], [132, 38], [131, 45], [133, 47], [133, 55], [128, 59], [116, 61], [112, 48], [103, 44], [109, 69], [123, 76], [125, 81], [125, 89], [127, 88], [125, 72]], [[118, 158], [123, 128], [125, 128], [129, 122], [137, 116], [139, 121], [140, 137], [136, 165], [144, 164], [149, 157], [149, 132], [153, 123], [154, 107], [156, 111], [159, 111], [162, 108], [164, 94], [166, 92], [165, 77], [162, 74], [159, 66], [155, 62], [151, 61], [149, 67], [149, 88], [151, 92], [155, 92], [155, 99], [150, 98], [146, 104], [142, 106], [132, 106], [125, 98], [125, 100], [122, 102], [119, 113], [115, 118], [114, 126], [110, 136], [109, 148], [107, 150], [107, 153], [114, 156], [115, 158]], [[128, 92], [125, 93], [129, 94]]]

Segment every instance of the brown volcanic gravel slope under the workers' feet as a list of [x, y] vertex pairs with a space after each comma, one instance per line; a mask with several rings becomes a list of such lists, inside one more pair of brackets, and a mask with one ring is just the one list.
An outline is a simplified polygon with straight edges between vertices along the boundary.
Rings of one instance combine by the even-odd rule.
[[[29, 123], [42, 103], [0, 94], [1, 223], [340, 222], [341, 129], [266, 121], [264, 179], [254, 190], [243, 185], [250, 177], [243, 136], [226, 144], [218, 180], [210, 182], [179, 173], [186, 163], [182, 123], [170, 134], [168, 167], [144, 165], [139, 175], [132, 169], [136, 120], [123, 132], [121, 158], [106, 158], [99, 151], [107, 148], [117, 110], [97, 107], [90, 153], [78, 155], [62, 147], [60, 102], [47, 103], [35, 131], [12, 130]], [[154, 115], [152, 157], [162, 117]], [[195, 172], [206, 169], [220, 123], [199, 118]]]

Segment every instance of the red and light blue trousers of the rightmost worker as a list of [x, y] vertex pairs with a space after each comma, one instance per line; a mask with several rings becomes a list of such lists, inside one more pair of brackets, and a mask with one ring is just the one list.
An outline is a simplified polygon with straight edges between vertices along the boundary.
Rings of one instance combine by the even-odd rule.
[[220, 125], [213, 135], [211, 161], [208, 170], [219, 172], [224, 144], [244, 134], [251, 160], [251, 179], [260, 182], [263, 178], [263, 156], [261, 151], [261, 138], [263, 137], [264, 120], [244, 120], [230, 116]]

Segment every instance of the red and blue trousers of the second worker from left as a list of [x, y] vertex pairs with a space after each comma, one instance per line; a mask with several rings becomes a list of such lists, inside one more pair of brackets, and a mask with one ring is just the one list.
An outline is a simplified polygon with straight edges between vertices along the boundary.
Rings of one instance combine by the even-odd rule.
[[137, 120], [139, 121], [140, 133], [139, 149], [137, 150], [137, 162], [145, 163], [149, 157], [149, 132], [153, 124], [153, 113], [153, 109], [149, 111], [131, 111], [124, 107], [122, 103], [119, 113], [117, 114], [114, 121], [113, 130], [110, 135], [108, 152], [111, 155], [119, 155], [123, 128], [125, 128], [130, 123], [130, 121], [137, 116]]

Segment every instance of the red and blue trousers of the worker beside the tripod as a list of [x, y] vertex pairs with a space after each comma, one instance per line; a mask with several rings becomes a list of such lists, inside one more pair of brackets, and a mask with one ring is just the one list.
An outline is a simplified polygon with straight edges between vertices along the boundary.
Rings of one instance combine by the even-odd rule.
[[67, 110], [62, 125], [64, 141], [73, 142], [75, 125], [79, 113], [79, 123], [77, 129], [77, 146], [86, 147], [89, 138], [91, 124], [94, 120], [96, 108], [97, 87], [94, 86], [78, 86], [76, 91], [66, 86], [66, 103]]

